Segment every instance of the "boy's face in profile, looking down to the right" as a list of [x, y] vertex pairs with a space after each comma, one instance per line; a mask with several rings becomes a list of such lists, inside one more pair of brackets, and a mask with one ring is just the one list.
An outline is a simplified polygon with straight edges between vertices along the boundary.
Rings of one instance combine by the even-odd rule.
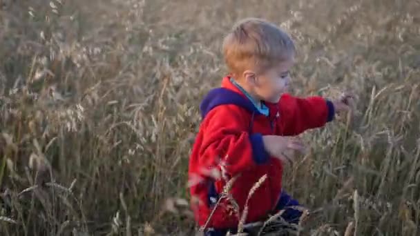
[[251, 83], [256, 97], [262, 101], [277, 103], [289, 88], [291, 82], [289, 70], [293, 65], [294, 57], [291, 57], [258, 75], [254, 74], [252, 78], [249, 77], [247, 81]]

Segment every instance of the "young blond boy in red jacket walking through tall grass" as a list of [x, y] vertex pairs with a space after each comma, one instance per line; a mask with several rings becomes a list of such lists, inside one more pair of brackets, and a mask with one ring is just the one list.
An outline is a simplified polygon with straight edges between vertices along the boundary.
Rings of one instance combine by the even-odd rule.
[[[262, 19], [245, 19], [233, 27], [223, 43], [229, 76], [200, 105], [202, 124], [189, 162], [191, 207], [206, 235], [236, 231], [252, 186], [267, 179], [249, 199], [246, 223], [267, 219], [270, 213], [297, 206], [282, 189], [283, 164], [290, 150], [303, 152], [297, 139], [347, 110], [345, 99], [300, 99], [287, 95], [295, 46], [280, 28]], [[289, 155], [287, 155], [289, 153]], [[211, 175], [211, 173], [221, 173]], [[229, 179], [231, 198], [220, 199]], [[197, 184], [198, 182], [198, 184]], [[288, 209], [283, 218], [297, 223], [300, 211]]]

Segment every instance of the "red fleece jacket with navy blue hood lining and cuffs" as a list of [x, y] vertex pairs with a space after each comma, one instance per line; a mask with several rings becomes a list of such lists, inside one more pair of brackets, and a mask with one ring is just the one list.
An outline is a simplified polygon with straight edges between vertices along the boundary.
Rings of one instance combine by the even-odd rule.
[[[228, 198], [220, 199], [207, 225], [213, 228], [238, 226], [236, 213], [242, 215], [249, 190], [265, 174], [267, 179], [249, 199], [246, 222], [265, 219], [275, 210], [282, 190], [283, 165], [269, 157], [262, 135], [298, 135], [334, 118], [330, 101], [290, 95], [283, 95], [278, 104], [265, 103], [269, 107], [266, 117], [229, 79], [225, 77], [222, 88], [211, 90], [200, 105], [203, 120], [189, 161], [191, 208], [200, 226], [207, 222], [227, 181], [238, 176], [229, 190], [237, 206]], [[221, 177], [211, 175], [214, 170]]]

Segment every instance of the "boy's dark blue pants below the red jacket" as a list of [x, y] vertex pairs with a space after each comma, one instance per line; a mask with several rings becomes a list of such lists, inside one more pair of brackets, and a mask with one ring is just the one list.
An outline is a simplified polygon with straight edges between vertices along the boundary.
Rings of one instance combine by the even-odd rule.
[[[300, 206], [299, 202], [296, 199], [293, 199], [287, 193], [283, 190], [280, 196], [280, 199], [278, 200], [278, 203], [276, 205], [276, 211], [285, 209], [285, 212], [281, 217], [285, 219], [285, 221], [289, 224], [298, 224], [300, 216], [302, 215], [302, 212], [300, 210], [288, 208], [290, 206]], [[230, 228], [230, 229], [207, 229], [204, 232], [205, 236], [225, 236], [227, 232], [231, 232], [232, 234], [237, 233], [236, 228]], [[247, 233], [247, 230], [244, 230], [244, 233]]]

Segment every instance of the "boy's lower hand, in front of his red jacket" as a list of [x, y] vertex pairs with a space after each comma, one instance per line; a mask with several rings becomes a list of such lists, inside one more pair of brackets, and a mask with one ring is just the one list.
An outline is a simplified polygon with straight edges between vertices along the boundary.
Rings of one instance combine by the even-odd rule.
[[278, 135], [265, 135], [262, 137], [265, 150], [272, 157], [276, 157], [283, 162], [292, 162], [294, 153], [305, 153], [305, 146], [296, 137], [283, 137]]

